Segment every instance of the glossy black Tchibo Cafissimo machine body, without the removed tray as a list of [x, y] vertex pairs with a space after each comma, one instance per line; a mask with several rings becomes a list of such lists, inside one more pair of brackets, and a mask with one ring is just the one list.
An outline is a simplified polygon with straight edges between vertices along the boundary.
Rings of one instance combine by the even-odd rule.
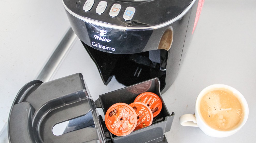
[[63, 0], [71, 27], [104, 84], [174, 82], [192, 37], [198, 0]]

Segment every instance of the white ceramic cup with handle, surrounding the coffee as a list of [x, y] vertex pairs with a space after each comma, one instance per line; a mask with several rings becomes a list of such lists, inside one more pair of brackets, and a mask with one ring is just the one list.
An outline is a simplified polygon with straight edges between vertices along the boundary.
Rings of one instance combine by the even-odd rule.
[[[242, 104], [244, 118], [243, 118], [242, 122], [239, 124], [239, 126], [237, 126], [235, 129], [232, 129], [229, 131], [215, 130], [215, 129], [211, 128], [210, 126], [208, 126], [201, 116], [199, 107], [200, 107], [200, 101], [201, 101], [202, 97], [206, 93], [213, 91], [213, 90], [218, 90], [218, 89], [224, 89], [224, 90], [229, 90], [229, 91], [233, 92], [233, 94], [237, 97], [237, 99]], [[249, 108], [248, 108], [248, 104], [247, 104], [244, 96], [239, 91], [237, 91], [235, 88], [230, 87], [228, 85], [223, 85], [223, 84], [214, 84], [214, 85], [210, 85], [210, 86], [204, 88], [199, 93], [199, 95], [196, 99], [194, 112], [195, 112], [194, 114], [182, 115], [179, 118], [180, 124], [182, 126], [199, 127], [206, 135], [211, 136], [211, 137], [228, 137], [228, 136], [236, 133], [239, 129], [241, 129], [244, 126], [244, 124], [248, 118]]]

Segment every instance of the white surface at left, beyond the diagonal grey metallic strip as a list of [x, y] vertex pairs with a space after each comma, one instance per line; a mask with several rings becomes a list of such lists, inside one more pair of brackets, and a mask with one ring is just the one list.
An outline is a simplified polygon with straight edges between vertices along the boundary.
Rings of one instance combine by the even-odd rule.
[[0, 1], [0, 130], [20, 88], [36, 78], [69, 27], [61, 0]]

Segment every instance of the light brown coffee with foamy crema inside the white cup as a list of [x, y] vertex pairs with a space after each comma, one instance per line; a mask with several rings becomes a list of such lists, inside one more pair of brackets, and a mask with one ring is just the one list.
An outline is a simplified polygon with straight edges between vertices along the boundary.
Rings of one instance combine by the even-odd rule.
[[213, 129], [229, 131], [243, 121], [243, 107], [233, 92], [220, 89], [206, 93], [200, 101], [201, 116]]

